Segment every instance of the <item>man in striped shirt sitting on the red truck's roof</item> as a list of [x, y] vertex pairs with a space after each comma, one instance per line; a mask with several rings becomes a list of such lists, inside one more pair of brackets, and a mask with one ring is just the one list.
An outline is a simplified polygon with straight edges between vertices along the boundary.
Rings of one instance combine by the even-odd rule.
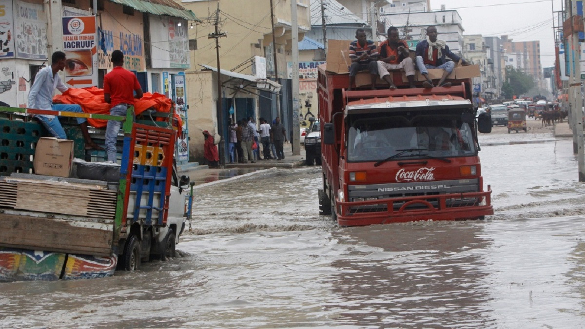
[[352, 66], [349, 67], [349, 88], [352, 90], [356, 82], [356, 75], [359, 71], [368, 70], [371, 74], [371, 89], [375, 89], [376, 79], [378, 78], [378, 47], [368, 40], [364, 29], [356, 30], [356, 39], [349, 44], [349, 59], [352, 60]]

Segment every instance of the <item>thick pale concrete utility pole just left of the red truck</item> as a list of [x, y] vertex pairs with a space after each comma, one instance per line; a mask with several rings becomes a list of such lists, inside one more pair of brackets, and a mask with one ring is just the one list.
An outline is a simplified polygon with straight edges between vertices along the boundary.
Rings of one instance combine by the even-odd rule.
[[297, 0], [291, 0], [292, 22], [292, 155], [301, 154], [301, 134], [299, 129], [299, 95], [298, 95], [298, 24]]

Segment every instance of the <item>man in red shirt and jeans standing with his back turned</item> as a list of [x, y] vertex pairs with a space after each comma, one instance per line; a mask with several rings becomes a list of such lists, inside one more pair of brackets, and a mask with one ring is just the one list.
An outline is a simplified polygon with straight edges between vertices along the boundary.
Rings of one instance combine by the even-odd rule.
[[[111, 115], [126, 116], [128, 108], [134, 105], [134, 99], [142, 98], [142, 88], [135, 74], [122, 67], [124, 54], [120, 50], [112, 52], [112, 64], [112, 71], [104, 77], [104, 98], [106, 103], [112, 105]], [[105, 141], [108, 162], [116, 162], [116, 140], [121, 126], [121, 121], [108, 121]]]

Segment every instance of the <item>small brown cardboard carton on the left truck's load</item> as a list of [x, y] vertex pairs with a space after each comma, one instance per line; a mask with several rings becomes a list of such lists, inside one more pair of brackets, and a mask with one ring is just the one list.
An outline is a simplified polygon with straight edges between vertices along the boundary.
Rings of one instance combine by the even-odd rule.
[[37, 142], [33, 168], [46, 176], [69, 177], [73, 163], [73, 140], [43, 137]]

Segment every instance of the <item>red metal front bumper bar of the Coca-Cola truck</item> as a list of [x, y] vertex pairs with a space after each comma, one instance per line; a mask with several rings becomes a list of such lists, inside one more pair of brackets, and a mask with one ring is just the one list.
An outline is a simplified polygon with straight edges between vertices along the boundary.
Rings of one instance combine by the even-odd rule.
[[491, 187], [483, 192], [387, 198], [342, 202], [335, 213], [341, 226], [390, 224], [409, 221], [472, 220], [493, 215]]

